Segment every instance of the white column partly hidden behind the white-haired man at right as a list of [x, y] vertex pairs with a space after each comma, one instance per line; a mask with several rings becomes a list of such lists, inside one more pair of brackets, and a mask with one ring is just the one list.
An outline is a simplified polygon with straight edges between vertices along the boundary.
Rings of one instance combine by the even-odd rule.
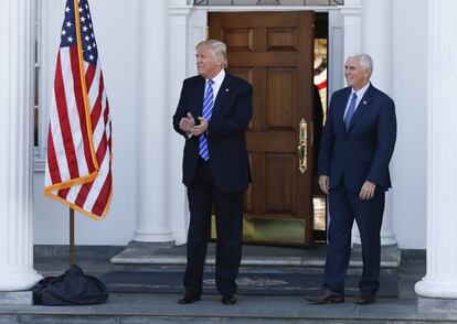
[[[393, 89], [392, 23], [392, 0], [363, 0], [361, 51], [369, 54], [374, 62], [371, 82], [390, 96], [392, 96]], [[391, 169], [394, 168], [394, 164], [392, 161]], [[392, 229], [392, 193], [389, 191], [385, 195], [381, 245], [395, 244], [395, 235]]]

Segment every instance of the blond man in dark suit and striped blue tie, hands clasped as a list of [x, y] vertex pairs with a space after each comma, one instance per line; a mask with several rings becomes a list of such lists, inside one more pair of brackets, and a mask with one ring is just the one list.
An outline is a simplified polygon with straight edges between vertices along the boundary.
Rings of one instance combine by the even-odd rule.
[[235, 304], [242, 257], [244, 192], [251, 182], [245, 130], [253, 114], [252, 86], [224, 71], [226, 47], [208, 40], [195, 46], [199, 75], [184, 80], [173, 127], [185, 139], [183, 183], [190, 226], [185, 293], [180, 304], [201, 299], [203, 266], [214, 204], [215, 282], [223, 304]]

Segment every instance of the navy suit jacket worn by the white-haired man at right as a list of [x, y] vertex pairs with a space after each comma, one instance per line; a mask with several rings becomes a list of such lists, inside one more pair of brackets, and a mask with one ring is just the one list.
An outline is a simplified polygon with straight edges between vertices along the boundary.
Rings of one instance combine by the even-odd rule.
[[365, 180], [386, 191], [391, 187], [389, 162], [396, 140], [395, 104], [370, 85], [347, 131], [343, 114], [350, 94], [347, 87], [331, 97], [320, 144], [319, 175], [330, 176], [330, 188], [344, 179], [351, 192], [360, 192]]

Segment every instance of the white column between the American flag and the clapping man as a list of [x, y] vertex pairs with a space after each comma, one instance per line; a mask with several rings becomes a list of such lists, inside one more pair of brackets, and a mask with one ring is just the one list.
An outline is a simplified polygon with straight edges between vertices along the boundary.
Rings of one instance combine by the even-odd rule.
[[[169, 60], [177, 53], [168, 52], [168, 3], [142, 0], [140, 2], [141, 46], [138, 109], [138, 219], [134, 240], [173, 240], [169, 210], [169, 139], [170, 108], [168, 84]], [[170, 40], [173, 42], [173, 40]], [[137, 60], [131, 57], [131, 60]]]

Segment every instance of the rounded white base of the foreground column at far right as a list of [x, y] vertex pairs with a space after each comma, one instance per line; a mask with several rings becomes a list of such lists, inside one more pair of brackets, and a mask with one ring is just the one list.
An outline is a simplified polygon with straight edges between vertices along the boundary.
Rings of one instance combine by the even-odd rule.
[[[419, 296], [432, 299], [457, 299], [457, 281], [434, 280], [425, 276], [414, 285], [414, 291]], [[457, 301], [456, 301], [457, 310]]]

